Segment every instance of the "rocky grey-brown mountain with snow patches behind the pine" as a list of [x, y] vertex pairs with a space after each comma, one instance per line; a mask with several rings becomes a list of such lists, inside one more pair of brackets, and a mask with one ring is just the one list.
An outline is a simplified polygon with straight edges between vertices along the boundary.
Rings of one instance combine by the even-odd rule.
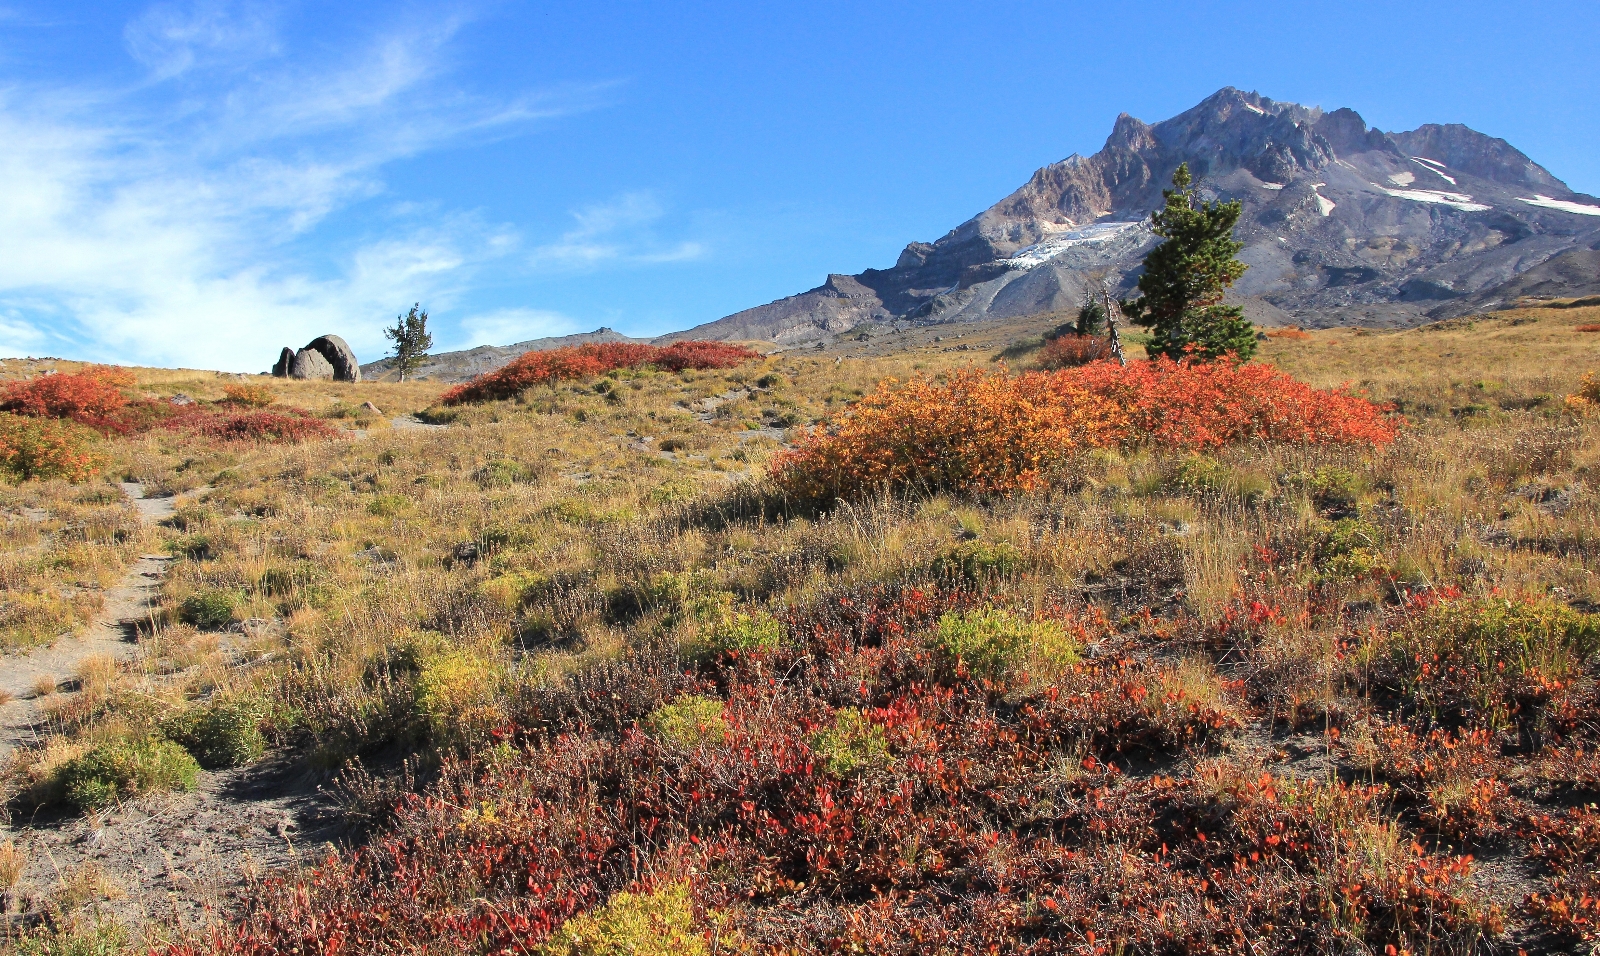
[[802, 344], [861, 323], [1075, 309], [1099, 278], [1128, 294], [1157, 241], [1147, 216], [1184, 161], [1206, 198], [1245, 208], [1250, 270], [1234, 297], [1258, 321], [1410, 325], [1534, 288], [1600, 289], [1600, 200], [1504, 139], [1461, 125], [1381, 133], [1349, 109], [1227, 88], [1162, 123], [1117, 117], [1098, 153], [1045, 166], [891, 269], [830, 275], [669, 337]]

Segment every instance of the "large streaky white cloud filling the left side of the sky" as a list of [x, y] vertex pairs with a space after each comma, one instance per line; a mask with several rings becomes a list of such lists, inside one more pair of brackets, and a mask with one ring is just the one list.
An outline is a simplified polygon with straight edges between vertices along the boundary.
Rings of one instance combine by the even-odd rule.
[[125, 30], [149, 70], [134, 88], [0, 86], [0, 353], [259, 371], [331, 329], [376, 353], [397, 289], [448, 309], [522, 240], [405, 203], [382, 238], [318, 227], [386, 193], [386, 163], [590, 110], [611, 88], [451, 90], [454, 19], [307, 67], [264, 10], [150, 8]]

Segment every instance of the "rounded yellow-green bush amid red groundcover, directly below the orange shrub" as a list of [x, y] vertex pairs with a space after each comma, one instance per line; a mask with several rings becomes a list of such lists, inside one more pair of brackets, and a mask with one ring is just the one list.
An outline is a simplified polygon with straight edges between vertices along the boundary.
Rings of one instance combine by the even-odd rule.
[[1054, 620], [1010, 611], [952, 611], [939, 619], [933, 644], [978, 678], [1051, 679], [1078, 660], [1077, 641]]

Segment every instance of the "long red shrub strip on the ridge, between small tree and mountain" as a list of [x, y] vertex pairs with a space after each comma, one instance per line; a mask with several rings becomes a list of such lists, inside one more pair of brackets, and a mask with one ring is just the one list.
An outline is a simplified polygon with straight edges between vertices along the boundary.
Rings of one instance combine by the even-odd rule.
[[733, 368], [760, 353], [726, 342], [674, 342], [667, 347], [643, 342], [590, 342], [546, 352], [523, 352], [509, 364], [483, 372], [450, 388], [443, 404], [515, 398], [534, 385], [566, 379], [587, 379], [618, 368], [654, 364], [669, 371]]

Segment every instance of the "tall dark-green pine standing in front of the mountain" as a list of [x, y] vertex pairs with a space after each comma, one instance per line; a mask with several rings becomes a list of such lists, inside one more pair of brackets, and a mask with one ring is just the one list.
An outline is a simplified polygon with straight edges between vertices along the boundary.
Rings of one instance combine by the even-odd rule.
[[1202, 201], [1189, 163], [1173, 173], [1173, 185], [1162, 190], [1166, 206], [1155, 211], [1150, 225], [1166, 241], [1146, 256], [1142, 294], [1122, 302], [1122, 312], [1154, 333], [1152, 355], [1250, 358], [1254, 329], [1238, 305], [1222, 305], [1222, 293], [1248, 269], [1237, 259], [1245, 243], [1234, 238], [1238, 201]]

